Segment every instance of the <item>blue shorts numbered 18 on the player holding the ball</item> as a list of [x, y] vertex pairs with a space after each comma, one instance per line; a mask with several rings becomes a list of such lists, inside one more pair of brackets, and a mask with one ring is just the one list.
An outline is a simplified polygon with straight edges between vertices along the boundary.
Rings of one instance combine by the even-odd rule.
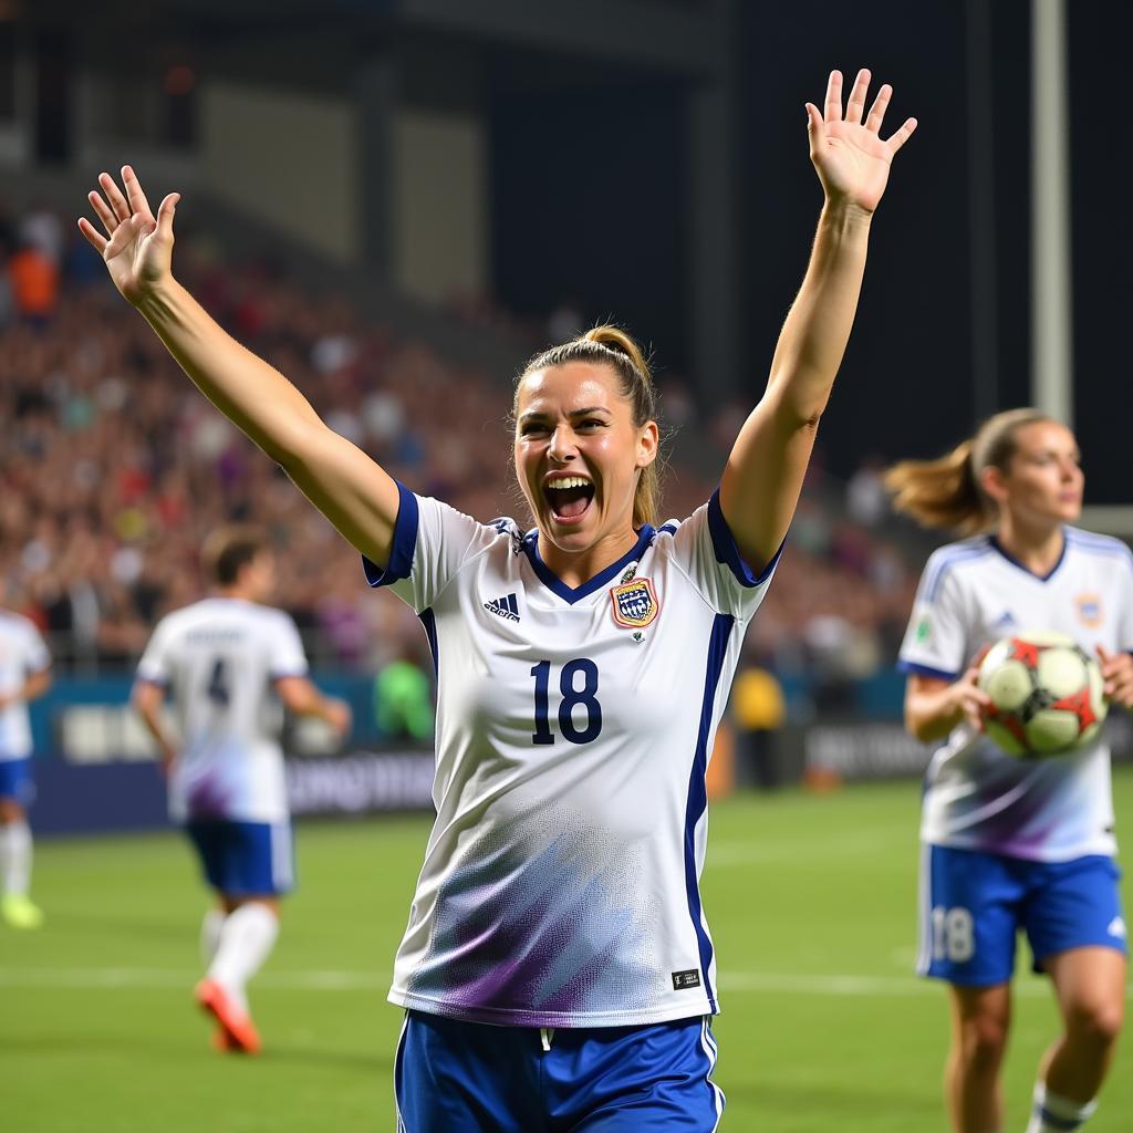
[[1121, 870], [1092, 854], [1025, 861], [977, 850], [925, 846], [917, 971], [972, 987], [1006, 983], [1015, 935], [1031, 946], [1034, 971], [1068, 948], [1128, 954], [1118, 892]]

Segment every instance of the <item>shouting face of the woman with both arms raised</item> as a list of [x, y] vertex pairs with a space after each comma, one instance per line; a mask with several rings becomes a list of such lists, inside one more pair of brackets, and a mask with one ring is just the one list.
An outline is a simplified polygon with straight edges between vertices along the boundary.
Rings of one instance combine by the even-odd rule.
[[633, 424], [611, 366], [572, 361], [523, 378], [516, 470], [539, 530], [562, 551], [632, 535], [633, 494], [657, 424]]

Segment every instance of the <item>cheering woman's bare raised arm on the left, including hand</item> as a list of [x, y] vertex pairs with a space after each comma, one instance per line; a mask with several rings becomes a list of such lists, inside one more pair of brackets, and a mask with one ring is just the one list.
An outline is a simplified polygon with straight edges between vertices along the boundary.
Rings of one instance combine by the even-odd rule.
[[122, 187], [109, 173], [90, 202], [105, 235], [84, 216], [78, 227], [110, 278], [216, 408], [281, 465], [310, 502], [378, 566], [390, 557], [398, 486], [375, 461], [327, 428], [282, 375], [228, 335], [172, 274], [171, 193], [156, 218], [134, 170]]

